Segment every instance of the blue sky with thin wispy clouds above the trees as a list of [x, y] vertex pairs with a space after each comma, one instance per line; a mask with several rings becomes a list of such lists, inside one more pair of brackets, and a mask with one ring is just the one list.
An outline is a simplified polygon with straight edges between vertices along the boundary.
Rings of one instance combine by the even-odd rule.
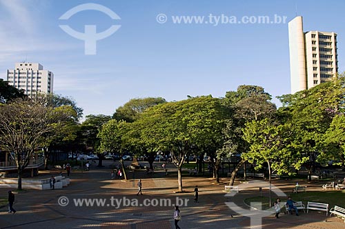
[[[119, 18], [92, 8], [59, 19], [86, 3]], [[55, 94], [75, 99], [84, 116], [112, 115], [133, 98], [224, 97], [244, 84], [262, 86], [279, 106], [275, 97], [290, 93], [288, 21], [300, 15], [304, 31], [336, 32], [343, 72], [344, 8], [338, 0], [0, 0], [0, 78], [16, 62], [41, 63], [55, 75]], [[277, 23], [258, 23], [259, 16]], [[121, 27], [96, 41], [95, 54], [85, 54], [86, 38], [61, 25], [81, 33], [85, 25], [97, 33]]]

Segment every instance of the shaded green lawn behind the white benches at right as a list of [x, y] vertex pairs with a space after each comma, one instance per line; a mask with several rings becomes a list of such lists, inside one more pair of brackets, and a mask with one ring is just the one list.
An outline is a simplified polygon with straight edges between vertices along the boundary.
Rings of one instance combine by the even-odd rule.
[[[306, 206], [308, 201], [319, 202], [319, 203], [328, 203], [328, 208], [331, 209], [335, 205], [345, 208], [345, 190], [342, 191], [326, 191], [326, 192], [298, 192], [290, 194], [290, 197], [293, 201], [303, 201]], [[272, 199], [272, 203], [275, 199]], [[282, 203], [286, 202], [286, 199], [281, 198]], [[244, 200], [244, 202], [250, 205], [250, 202], [261, 202], [262, 209], [269, 208], [269, 199], [268, 197], [250, 197]], [[255, 206], [254, 206], [255, 207]]]

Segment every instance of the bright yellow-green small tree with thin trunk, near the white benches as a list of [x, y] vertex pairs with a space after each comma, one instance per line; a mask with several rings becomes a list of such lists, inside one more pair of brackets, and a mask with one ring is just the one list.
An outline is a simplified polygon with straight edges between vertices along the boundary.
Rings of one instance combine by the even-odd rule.
[[291, 174], [290, 168], [299, 169], [308, 158], [302, 157], [293, 146], [294, 137], [288, 124], [270, 123], [269, 119], [246, 123], [243, 138], [249, 144], [249, 150], [241, 157], [255, 164], [255, 169], [268, 167], [268, 181], [270, 183], [271, 206], [271, 174]]

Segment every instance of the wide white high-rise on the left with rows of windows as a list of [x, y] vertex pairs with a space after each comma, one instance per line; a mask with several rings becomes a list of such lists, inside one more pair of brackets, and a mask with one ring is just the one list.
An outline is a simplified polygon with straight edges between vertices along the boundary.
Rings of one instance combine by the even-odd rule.
[[43, 70], [39, 63], [16, 63], [14, 70], [7, 70], [8, 84], [15, 88], [25, 90], [32, 96], [37, 93], [52, 93], [54, 74]]

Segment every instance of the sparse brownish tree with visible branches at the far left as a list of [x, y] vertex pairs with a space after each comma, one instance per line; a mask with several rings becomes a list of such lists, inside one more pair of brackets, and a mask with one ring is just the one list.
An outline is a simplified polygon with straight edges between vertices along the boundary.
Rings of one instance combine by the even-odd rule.
[[0, 106], [0, 146], [17, 164], [18, 190], [23, 170], [43, 144], [43, 135], [54, 135], [70, 117], [64, 107], [46, 107], [39, 99], [16, 99]]

